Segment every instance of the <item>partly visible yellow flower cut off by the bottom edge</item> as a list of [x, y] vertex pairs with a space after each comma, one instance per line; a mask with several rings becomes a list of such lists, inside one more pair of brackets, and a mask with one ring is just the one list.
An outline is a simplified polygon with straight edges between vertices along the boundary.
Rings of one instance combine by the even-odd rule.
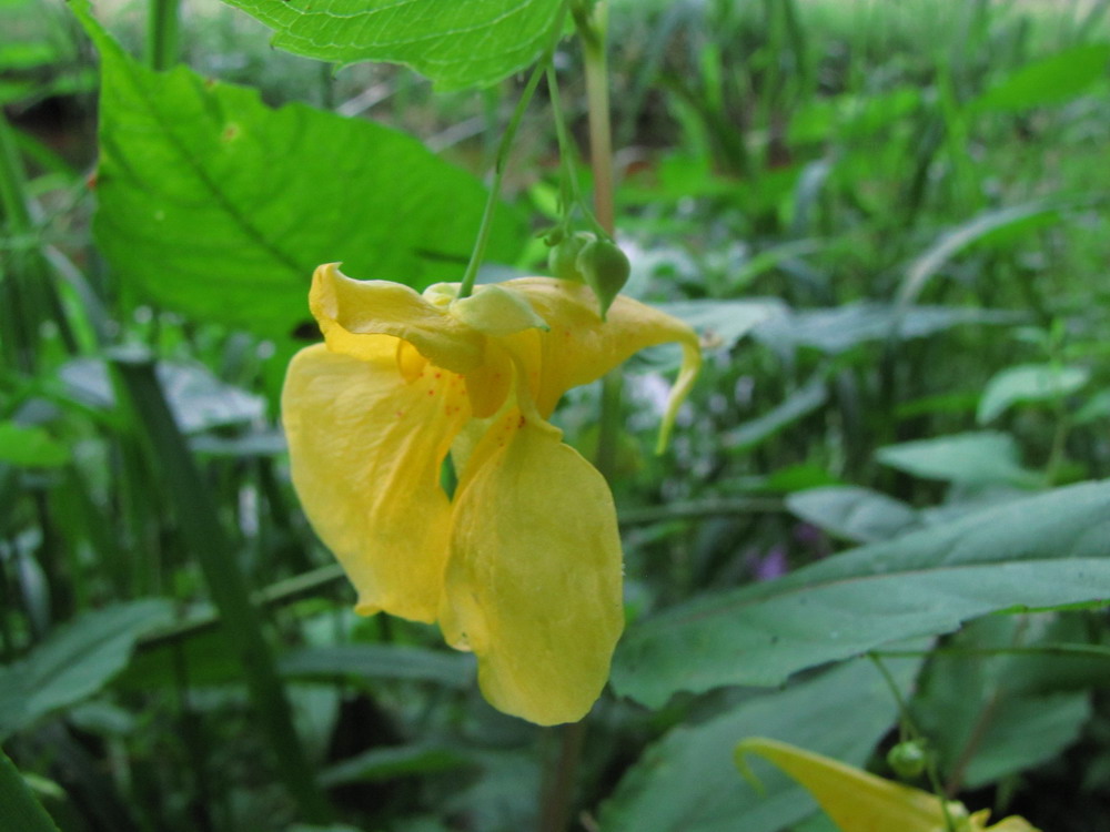
[[745, 754], [758, 754], [806, 787], [841, 832], [1039, 832], [1022, 818], [988, 826], [990, 810], [968, 814], [965, 805], [945, 805], [935, 794], [846, 765], [785, 742], [751, 738], [736, 747], [736, 764], [751, 779]]

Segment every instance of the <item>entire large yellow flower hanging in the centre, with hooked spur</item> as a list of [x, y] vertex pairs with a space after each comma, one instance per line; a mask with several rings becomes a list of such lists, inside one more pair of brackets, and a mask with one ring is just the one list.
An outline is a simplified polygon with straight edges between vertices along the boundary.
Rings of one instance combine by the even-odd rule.
[[664, 440], [697, 338], [623, 296], [603, 323], [586, 286], [549, 277], [456, 293], [316, 270], [309, 303], [325, 343], [293, 358], [282, 393], [293, 485], [359, 612], [438, 620], [477, 656], [494, 707], [574, 721], [623, 628], [620, 540], [604, 478], [547, 418], [568, 388], [676, 341]]

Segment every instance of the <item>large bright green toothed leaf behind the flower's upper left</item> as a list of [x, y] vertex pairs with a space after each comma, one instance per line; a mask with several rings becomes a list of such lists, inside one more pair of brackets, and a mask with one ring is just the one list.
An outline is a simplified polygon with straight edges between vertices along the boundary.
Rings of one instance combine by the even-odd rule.
[[[313, 270], [424, 286], [458, 280], [486, 191], [415, 139], [184, 67], [139, 65], [74, 0], [101, 52], [94, 234], [109, 262], [159, 303], [282, 336], [309, 321]], [[504, 212], [503, 212], [504, 213]], [[502, 216], [491, 260], [522, 235]]]

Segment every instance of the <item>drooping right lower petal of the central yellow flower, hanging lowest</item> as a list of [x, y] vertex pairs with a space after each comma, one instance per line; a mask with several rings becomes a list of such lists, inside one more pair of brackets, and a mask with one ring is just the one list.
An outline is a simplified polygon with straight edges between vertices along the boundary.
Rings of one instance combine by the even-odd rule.
[[440, 613], [490, 703], [544, 726], [589, 711], [624, 627], [613, 498], [561, 438], [516, 408], [494, 420], [460, 480]]

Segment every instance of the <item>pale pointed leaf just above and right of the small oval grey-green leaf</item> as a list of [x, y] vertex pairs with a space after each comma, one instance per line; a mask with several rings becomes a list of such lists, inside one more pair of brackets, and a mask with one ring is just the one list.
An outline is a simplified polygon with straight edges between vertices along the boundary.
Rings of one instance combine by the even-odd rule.
[[926, 479], [970, 486], [1008, 484], [1032, 487], [1035, 471], [1021, 467], [1018, 444], [1009, 434], [979, 430], [934, 439], [887, 445], [875, 458], [891, 468]]

